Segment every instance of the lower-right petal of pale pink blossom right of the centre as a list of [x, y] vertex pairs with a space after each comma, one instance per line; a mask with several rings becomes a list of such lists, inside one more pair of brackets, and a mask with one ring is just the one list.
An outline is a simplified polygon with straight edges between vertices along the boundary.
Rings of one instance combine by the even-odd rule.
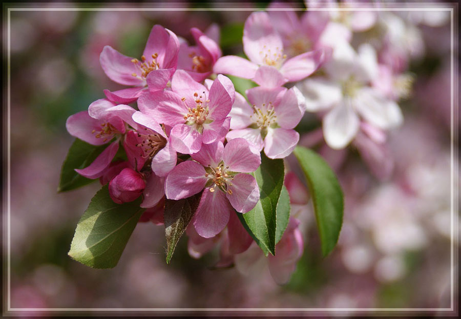
[[299, 141], [299, 133], [284, 128], [268, 129], [264, 153], [269, 158], [284, 158], [291, 154]]

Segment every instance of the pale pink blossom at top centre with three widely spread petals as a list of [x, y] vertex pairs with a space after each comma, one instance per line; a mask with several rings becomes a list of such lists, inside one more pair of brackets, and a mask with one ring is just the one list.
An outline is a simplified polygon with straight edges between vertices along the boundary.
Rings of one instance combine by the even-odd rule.
[[213, 71], [250, 78], [261, 86], [277, 87], [309, 76], [329, 56], [329, 50], [319, 49], [287, 59], [282, 38], [266, 12], [253, 12], [246, 19], [243, 50], [250, 61], [235, 55], [223, 56]]

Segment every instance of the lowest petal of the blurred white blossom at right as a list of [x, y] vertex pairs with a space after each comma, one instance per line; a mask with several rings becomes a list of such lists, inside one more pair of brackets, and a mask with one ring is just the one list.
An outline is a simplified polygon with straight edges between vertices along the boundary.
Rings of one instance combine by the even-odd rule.
[[340, 103], [323, 118], [323, 135], [333, 149], [346, 147], [359, 131], [359, 117], [346, 103]]

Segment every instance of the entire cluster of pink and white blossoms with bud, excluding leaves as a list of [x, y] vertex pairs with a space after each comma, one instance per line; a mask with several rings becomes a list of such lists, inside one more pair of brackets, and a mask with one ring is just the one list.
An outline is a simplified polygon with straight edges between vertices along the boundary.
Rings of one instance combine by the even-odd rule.
[[[215, 28], [205, 33], [193, 28], [195, 45], [190, 46], [156, 25], [140, 58], [104, 47], [102, 69], [128, 88], [104, 90], [106, 98], [68, 118], [71, 135], [107, 145], [93, 163], [76, 171], [108, 184], [117, 204], [142, 196], [141, 221], [155, 224], [163, 223], [165, 200], [202, 192], [186, 230], [190, 254], [199, 257], [219, 243], [219, 265], [254, 262], [251, 247], [256, 244], [235, 211], [247, 213], [260, 200], [252, 173], [261, 165], [261, 152], [270, 159], [290, 155], [306, 111], [321, 117], [325, 142], [333, 149], [345, 148], [354, 138], [358, 148], [381, 145], [385, 131], [402, 122], [396, 101], [409, 93], [411, 77], [402, 74], [407, 52], [393, 50], [398, 45], [392, 36], [379, 46], [352, 44], [354, 32], [379, 23], [375, 11], [333, 13], [250, 14], [243, 33], [248, 59], [222, 56]], [[396, 58], [389, 55], [398, 54], [401, 63], [393, 65]], [[225, 75], [257, 86], [245, 97]], [[114, 160], [120, 152], [125, 160]], [[277, 254], [267, 258], [278, 283], [289, 280], [302, 255], [296, 217], [303, 209], [294, 208], [307, 205], [309, 197], [295, 174], [286, 174], [285, 185], [291, 216]]]

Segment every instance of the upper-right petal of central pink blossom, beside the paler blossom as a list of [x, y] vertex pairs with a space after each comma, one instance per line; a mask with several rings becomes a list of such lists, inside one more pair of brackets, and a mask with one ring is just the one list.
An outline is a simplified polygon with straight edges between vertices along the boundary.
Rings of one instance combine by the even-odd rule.
[[219, 74], [209, 89], [209, 117], [221, 119], [231, 111], [235, 101], [235, 89], [232, 81]]

